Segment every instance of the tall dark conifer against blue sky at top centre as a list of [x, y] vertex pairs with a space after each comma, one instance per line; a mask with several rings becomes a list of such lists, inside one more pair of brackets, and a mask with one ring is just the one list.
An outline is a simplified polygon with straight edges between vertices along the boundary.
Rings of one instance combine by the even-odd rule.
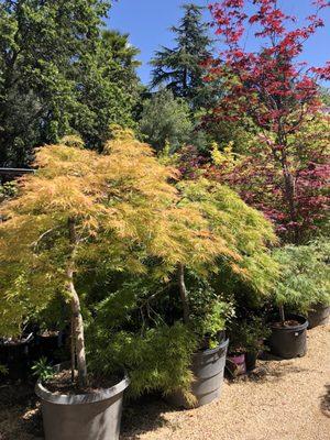
[[152, 87], [166, 85], [175, 97], [186, 98], [198, 109], [208, 98], [201, 63], [211, 56], [212, 40], [202, 22], [204, 8], [188, 3], [183, 9], [185, 14], [179, 25], [170, 29], [176, 35], [176, 47], [162, 47], [151, 62], [154, 66]]

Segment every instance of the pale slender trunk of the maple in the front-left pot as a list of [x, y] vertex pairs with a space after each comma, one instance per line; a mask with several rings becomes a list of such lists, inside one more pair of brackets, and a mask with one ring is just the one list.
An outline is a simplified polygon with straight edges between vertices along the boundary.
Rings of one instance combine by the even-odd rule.
[[[75, 230], [75, 221], [73, 219], [68, 220], [69, 239], [73, 246], [73, 254], [77, 245], [77, 237]], [[73, 255], [72, 255], [73, 256]], [[86, 350], [85, 350], [85, 333], [84, 333], [84, 320], [81, 315], [80, 299], [75, 288], [74, 283], [74, 267], [73, 261], [69, 263], [67, 268], [68, 277], [68, 290], [70, 294], [70, 307], [72, 307], [72, 322], [73, 322], [73, 342], [75, 344], [75, 350], [77, 358], [77, 369], [78, 369], [78, 382], [81, 387], [87, 384], [87, 364], [86, 364]], [[74, 356], [75, 358], [75, 356]], [[73, 365], [74, 367], [74, 365]]]

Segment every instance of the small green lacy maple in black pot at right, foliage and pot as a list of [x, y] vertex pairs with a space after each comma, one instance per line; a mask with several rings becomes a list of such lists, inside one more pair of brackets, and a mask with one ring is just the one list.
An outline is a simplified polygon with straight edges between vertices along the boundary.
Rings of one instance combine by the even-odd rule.
[[[320, 300], [327, 301], [329, 266], [319, 258], [315, 244], [287, 245], [275, 251], [274, 257], [282, 266], [282, 275], [274, 289], [279, 319], [271, 323], [271, 351], [285, 359], [304, 356], [308, 327], [305, 316]], [[290, 312], [286, 314], [285, 308]]]

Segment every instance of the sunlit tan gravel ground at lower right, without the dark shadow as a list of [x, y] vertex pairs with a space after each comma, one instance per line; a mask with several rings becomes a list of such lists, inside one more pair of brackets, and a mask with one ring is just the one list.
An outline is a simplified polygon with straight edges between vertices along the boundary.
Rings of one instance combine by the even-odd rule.
[[226, 383], [219, 402], [195, 410], [145, 408], [145, 432], [142, 427], [122, 440], [330, 440], [329, 403], [327, 326], [308, 331], [305, 358], [258, 362], [257, 374]]

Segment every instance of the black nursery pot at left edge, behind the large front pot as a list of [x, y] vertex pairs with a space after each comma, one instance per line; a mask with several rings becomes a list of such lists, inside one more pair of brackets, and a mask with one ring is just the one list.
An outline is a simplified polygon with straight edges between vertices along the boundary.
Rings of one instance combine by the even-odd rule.
[[32, 333], [19, 340], [2, 339], [0, 341], [0, 364], [8, 369], [6, 378], [11, 381], [28, 378], [33, 341]]

